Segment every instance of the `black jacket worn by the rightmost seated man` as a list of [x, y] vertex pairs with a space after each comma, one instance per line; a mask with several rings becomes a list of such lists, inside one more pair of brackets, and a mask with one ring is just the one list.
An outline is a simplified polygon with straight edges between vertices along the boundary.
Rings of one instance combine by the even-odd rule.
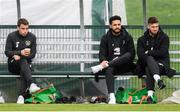
[[[161, 30], [157, 33], [156, 37], [154, 37], [154, 41], [152, 42], [149, 34], [149, 30], [147, 30], [143, 36], [141, 36], [137, 41], [137, 55], [139, 65], [139, 69], [141, 69], [141, 76], [145, 73], [146, 66], [146, 57], [152, 56], [157, 62], [160, 62], [165, 67], [165, 75], [172, 75], [174, 71], [170, 69], [170, 58], [169, 58], [169, 37]], [[145, 54], [145, 51], [148, 51], [148, 54]], [[171, 76], [170, 76], [171, 77]]]

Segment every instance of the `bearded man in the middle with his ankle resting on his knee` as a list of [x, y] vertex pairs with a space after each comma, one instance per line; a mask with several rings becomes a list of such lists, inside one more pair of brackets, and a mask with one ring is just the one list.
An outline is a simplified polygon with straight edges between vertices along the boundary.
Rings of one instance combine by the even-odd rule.
[[114, 75], [130, 72], [134, 68], [134, 42], [131, 35], [121, 26], [121, 18], [112, 16], [109, 19], [110, 29], [100, 43], [100, 64], [91, 67], [94, 74], [103, 70], [109, 93], [109, 104], [116, 104], [114, 95]]

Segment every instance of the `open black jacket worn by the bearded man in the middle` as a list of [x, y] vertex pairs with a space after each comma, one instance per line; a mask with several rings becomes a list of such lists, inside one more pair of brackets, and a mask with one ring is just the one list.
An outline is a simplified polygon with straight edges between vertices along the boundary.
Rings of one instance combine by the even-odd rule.
[[[112, 30], [110, 29], [101, 39], [100, 50], [99, 50], [99, 60], [111, 61], [113, 59], [113, 35]], [[123, 55], [127, 52], [131, 54], [131, 62], [133, 62], [135, 57], [135, 48], [134, 42], [131, 35], [125, 30], [122, 26], [120, 34], [121, 42], [120, 44], [120, 54]]]

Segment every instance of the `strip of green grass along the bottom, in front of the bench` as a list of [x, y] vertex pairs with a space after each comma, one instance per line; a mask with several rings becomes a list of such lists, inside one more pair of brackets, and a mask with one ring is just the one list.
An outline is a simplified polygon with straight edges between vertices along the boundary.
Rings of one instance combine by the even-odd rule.
[[178, 104], [1, 104], [0, 111], [178, 111]]

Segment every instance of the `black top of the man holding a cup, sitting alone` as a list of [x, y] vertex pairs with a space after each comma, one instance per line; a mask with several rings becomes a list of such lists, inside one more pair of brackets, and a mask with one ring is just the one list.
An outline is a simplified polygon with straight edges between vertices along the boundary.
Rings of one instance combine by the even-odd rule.
[[[21, 50], [24, 48], [31, 49], [29, 56], [21, 55]], [[36, 36], [31, 32], [28, 32], [26, 37], [20, 35], [18, 31], [10, 33], [6, 40], [5, 54], [8, 57], [8, 60], [12, 60], [14, 55], [19, 55], [21, 58], [31, 62], [36, 54]]]

